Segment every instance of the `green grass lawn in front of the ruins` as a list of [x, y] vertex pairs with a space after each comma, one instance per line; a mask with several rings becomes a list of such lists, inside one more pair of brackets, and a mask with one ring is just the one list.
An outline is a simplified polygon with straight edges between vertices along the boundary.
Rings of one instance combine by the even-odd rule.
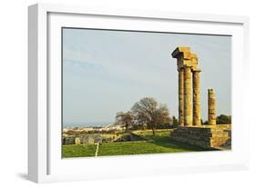
[[[98, 156], [107, 155], [128, 155], [144, 153], [184, 153], [206, 151], [201, 147], [184, 143], [177, 143], [169, 140], [171, 130], [158, 130], [156, 136], [152, 131], [135, 131], [152, 142], [123, 142], [123, 143], [102, 143], [99, 146]], [[63, 157], [86, 157], [95, 156], [97, 145], [63, 145]]]

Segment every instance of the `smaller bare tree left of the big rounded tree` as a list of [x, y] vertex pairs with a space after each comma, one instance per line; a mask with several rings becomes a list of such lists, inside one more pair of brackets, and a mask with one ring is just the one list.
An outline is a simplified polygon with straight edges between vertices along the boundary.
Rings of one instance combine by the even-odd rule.
[[133, 124], [133, 117], [131, 112], [130, 111], [128, 111], [127, 113], [118, 112], [116, 115], [116, 123], [124, 125], [126, 127], [126, 132], [128, 132], [128, 129]]

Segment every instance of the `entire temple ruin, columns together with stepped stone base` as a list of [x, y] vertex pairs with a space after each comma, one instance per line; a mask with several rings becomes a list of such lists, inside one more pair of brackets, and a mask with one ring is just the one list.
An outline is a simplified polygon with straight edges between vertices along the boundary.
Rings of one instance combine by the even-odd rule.
[[179, 46], [172, 52], [179, 74], [179, 126], [170, 138], [205, 148], [230, 143], [230, 124], [216, 125], [216, 96], [208, 89], [208, 124], [201, 124], [200, 72], [198, 56], [189, 47]]

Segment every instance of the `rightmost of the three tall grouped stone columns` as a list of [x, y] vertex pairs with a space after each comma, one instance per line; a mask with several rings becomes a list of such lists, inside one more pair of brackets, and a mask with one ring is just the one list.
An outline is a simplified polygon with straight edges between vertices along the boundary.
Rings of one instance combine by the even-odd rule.
[[200, 70], [193, 70], [193, 125], [201, 124], [200, 114]]

